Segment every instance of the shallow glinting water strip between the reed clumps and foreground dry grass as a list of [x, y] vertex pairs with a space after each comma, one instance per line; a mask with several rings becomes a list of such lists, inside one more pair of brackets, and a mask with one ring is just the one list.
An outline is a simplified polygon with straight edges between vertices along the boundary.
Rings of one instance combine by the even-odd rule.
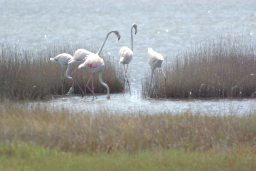
[[[96, 94], [97, 95], [97, 94]], [[77, 95], [66, 97], [59, 96], [47, 102], [27, 103], [31, 106], [47, 106], [49, 109], [66, 110], [73, 112], [98, 113], [107, 111], [110, 114], [156, 114], [170, 112], [179, 114], [190, 112], [193, 114], [209, 115], [249, 115], [256, 112], [255, 99], [138, 99], [128, 94], [111, 94], [111, 98], [106, 99], [106, 95], [97, 95], [97, 99], [92, 100], [92, 96], [82, 98]]]

